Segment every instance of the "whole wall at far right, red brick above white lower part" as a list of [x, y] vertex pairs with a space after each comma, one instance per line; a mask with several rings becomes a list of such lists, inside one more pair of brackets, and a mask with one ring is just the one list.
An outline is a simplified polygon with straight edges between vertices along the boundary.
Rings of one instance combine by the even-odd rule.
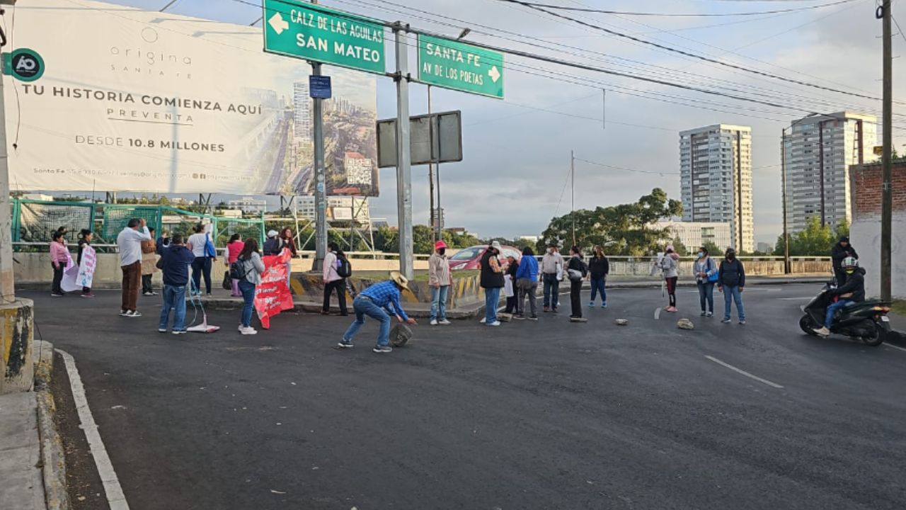
[[[906, 299], [906, 162], [892, 167], [891, 277], [894, 298]], [[865, 293], [881, 293], [881, 163], [850, 167], [850, 241], [865, 269]]]

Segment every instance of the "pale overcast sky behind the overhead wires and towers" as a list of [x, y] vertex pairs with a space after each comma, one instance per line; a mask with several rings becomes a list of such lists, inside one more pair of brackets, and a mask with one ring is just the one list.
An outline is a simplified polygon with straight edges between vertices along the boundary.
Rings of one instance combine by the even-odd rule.
[[[178, 0], [168, 12], [248, 25], [261, 15], [260, 7], [248, 5], [257, 1]], [[453, 36], [458, 35], [460, 27], [468, 26], [473, 29], [467, 36], [469, 40], [557, 56], [614, 71], [660, 74], [660, 78], [666, 77], [671, 83], [699, 84], [709, 89], [720, 86], [728, 93], [729, 89], [735, 89], [737, 93], [784, 106], [742, 103], [508, 55], [504, 101], [438, 88], [433, 88], [431, 93], [433, 111], [462, 111], [464, 160], [441, 167], [442, 205], [446, 210], [447, 225], [463, 226], [482, 236], [536, 235], [545, 229], [554, 214], [569, 211], [570, 190], [566, 178], [571, 150], [577, 158], [610, 165], [576, 163], [576, 208], [634, 201], [654, 187], [663, 188], [671, 198], [679, 199], [679, 131], [730, 123], [752, 127], [756, 240], [773, 243], [782, 228], [781, 129], [808, 112], [850, 109], [876, 113], [880, 118], [881, 103], [877, 101], [704, 63], [498, 0], [392, 2], [400, 6], [382, 0], [326, 0], [322, 4], [384, 20], [402, 20], [412, 26]], [[117, 0], [115, 3], [159, 10], [168, 0]], [[832, 2], [550, 0], [546, 3], [679, 14], [765, 11]], [[758, 16], [689, 18], [564, 14], [723, 62], [880, 97], [879, 37], [882, 26], [874, 18], [874, 9], [873, 0], [852, 0], [802, 12]], [[906, 14], [903, 18], [906, 20]], [[535, 39], [519, 43], [516, 40], [526, 40], [506, 32]], [[511, 40], [482, 33], [504, 35]], [[906, 43], [904, 37], [897, 34], [895, 26], [894, 34], [896, 57]], [[389, 65], [393, 64], [390, 41], [387, 54]], [[414, 62], [413, 54], [410, 63]], [[897, 84], [906, 78], [906, 74], [897, 70], [900, 62], [894, 61], [894, 98], [898, 97]], [[538, 75], [551, 73], [560, 75], [553, 79]], [[668, 73], [670, 76], [665, 76]], [[599, 83], [576, 83], [589, 79]], [[602, 88], [607, 90], [606, 106]], [[426, 87], [413, 83], [410, 113], [426, 111]], [[895, 123], [897, 113], [898, 109], [894, 108]], [[395, 114], [394, 84], [388, 78], [379, 78], [378, 115], [384, 118]], [[604, 115], [606, 124], [602, 123]], [[896, 145], [906, 142], [901, 133], [894, 131]], [[428, 223], [427, 167], [413, 167], [412, 178], [413, 219]], [[372, 216], [395, 223], [393, 169], [381, 170], [381, 197], [372, 201], [371, 211]]]

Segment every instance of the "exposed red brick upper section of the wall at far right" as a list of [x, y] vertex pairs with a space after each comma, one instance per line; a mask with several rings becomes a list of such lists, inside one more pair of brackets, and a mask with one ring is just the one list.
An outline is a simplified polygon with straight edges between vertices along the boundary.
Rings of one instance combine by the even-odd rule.
[[[893, 213], [906, 211], [906, 162], [892, 165]], [[853, 221], [881, 216], [881, 163], [850, 167]]]

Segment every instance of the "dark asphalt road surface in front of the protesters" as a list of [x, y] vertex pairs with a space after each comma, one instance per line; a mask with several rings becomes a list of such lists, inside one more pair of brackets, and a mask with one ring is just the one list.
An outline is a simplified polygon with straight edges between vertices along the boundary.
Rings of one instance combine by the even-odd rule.
[[746, 326], [692, 289], [660, 319], [660, 290], [612, 290], [585, 324], [419, 325], [390, 355], [373, 323], [334, 350], [346, 318], [243, 337], [215, 311], [224, 330], [174, 337], [157, 298], [121, 319], [116, 292], [25, 297], [135, 510], [901, 509], [906, 352], [803, 335], [814, 290], [747, 289]]

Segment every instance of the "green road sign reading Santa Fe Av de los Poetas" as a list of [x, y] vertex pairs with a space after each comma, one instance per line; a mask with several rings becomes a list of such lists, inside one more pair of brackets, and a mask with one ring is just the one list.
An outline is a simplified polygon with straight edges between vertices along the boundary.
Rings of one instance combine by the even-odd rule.
[[504, 54], [419, 34], [419, 82], [504, 98]]

